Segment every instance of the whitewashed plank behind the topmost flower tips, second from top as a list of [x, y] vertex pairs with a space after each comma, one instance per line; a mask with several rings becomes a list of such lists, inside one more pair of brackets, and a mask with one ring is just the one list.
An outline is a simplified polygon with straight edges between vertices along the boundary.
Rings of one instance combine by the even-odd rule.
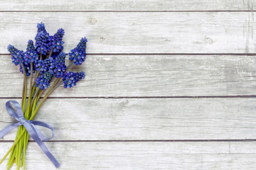
[[41, 21], [51, 34], [65, 29], [65, 52], [87, 36], [88, 53], [253, 53], [254, 13], [0, 13], [0, 53], [26, 49]]

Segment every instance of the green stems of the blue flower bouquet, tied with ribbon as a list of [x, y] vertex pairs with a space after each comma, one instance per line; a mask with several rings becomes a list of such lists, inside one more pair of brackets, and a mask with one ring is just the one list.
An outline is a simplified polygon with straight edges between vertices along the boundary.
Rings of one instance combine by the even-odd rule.
[[[51, 54], [50, 54], [51, 55]], [[48, 57], [50, 57], [50, 55]], [[71, 65], [74, 62], [70, 62], [68, 67], [66, 68], [66, 71], [71, 67]], [[38, 71], [35, 71], [33, 73], [33, 63], [31, 62], [31, 75], [30, 75], [30, 85], [29, 85], [29, 93], [27, 98], [27, 84], [28, 79], [26, 76], [25, 68], [23, 64], [21, 63], [21, 67], [23, 69], [23, 92], [22, 92], [22, 99], [21, 99], [21, 108], [23, 111], [24, 118], [27, 120], [33, 120], [36, 116], [36, 113], [38, 113], [39, 108], [41, 108], [44, 101], [46, 101], [46, 98], [53, 93], [55, 89], [57, 89], [62, 82], [58, 83], [61, 78], [54, 78], [50, 81], [53, 81], [55, 79], [54, 83], [50, 86], [50, 89], [46, 92], [45, 96], [41, 98], [41, 96], [44, 94], [45, 90], [41, 90], [40, 87], [36, 87], [36, 79], [40, 76], [40, 73]], [[34, 76], [34, 79], [33, 79]], [[28, 132], [26, 131], [26, 128], [24, 128], [23, 125], [19, 126], [18, 132], [16, 134], [16, 138], [14, 140], [14, 144], [11, 146], [9, 151], [4, 155], [3, 159], [1, 159], [0, 164], [4, 162], [4, 159], [10, 154], [9, 160], [7, 162], [7, 169], [10, 169], [11, 166], [16, 163], [17, 169], [20, 169], [21, 166], [23, 166], [23, 170], [25, 169], [25, 159], [26, 159], [26, 148], [28, 145]]]

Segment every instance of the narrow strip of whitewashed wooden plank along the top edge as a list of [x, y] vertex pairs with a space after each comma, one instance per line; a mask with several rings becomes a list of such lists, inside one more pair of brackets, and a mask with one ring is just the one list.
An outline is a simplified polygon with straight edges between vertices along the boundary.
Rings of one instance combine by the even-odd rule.
[[115, 0], [115, 1], [7, 1], [0, 2], [1, 11], [251, 11], [253, 0], [208, 1], [208, 0]]

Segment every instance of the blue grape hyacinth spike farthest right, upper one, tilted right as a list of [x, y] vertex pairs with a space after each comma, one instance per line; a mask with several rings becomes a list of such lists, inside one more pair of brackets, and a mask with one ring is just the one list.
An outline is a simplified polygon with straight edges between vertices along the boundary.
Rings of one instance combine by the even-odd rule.
[[82, 64], [82, 62], [85, 62], [86, 57], [86, 38], [82, 38], [80, 42], [78, 43], [77, 47], [75, 47], [73, 50], [71, 50], [69, 55], [69, 60], [73, 61], [76, 65]]

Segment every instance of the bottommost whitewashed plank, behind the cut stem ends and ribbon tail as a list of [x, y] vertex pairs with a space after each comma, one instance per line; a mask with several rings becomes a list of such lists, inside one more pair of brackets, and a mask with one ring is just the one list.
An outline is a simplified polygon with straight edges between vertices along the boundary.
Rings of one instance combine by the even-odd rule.
[[[254, 169], [255, 142], [50, 142], [60, 169]], [[5, 153], [11, 143], [0, 143]], [[250, 148], [250, 149], [244, 149]], [[26, 168], [55, 169], [35, 142]], [[249, 152], [249, 153], [245, 153]], [[72, 162], [72, 164], [70, 164]], [[1, 164], [4, 169], [6, 161]]]

